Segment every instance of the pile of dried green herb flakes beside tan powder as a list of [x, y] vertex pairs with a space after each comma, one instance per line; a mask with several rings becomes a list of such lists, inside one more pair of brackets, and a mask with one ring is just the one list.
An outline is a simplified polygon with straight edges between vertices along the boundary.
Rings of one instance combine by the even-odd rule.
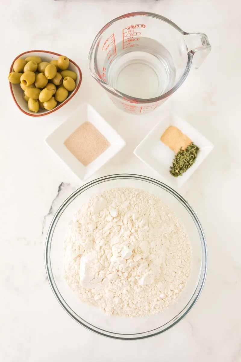
[[186, 172], [191, 167], [191, 165], [194, 164], [198, 151], [199, 147], [196, 146], [193, 142], [189, 144], [185, 150], [180, 148], [172, 162], [172, 166], [170, 166], [171, 175], [178, 177]]

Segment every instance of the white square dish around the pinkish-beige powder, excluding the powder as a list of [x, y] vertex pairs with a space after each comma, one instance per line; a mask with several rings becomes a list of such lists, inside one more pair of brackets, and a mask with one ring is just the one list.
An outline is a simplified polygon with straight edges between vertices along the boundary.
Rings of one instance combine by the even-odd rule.
[[[83, 123], [89, 121], [111, 144], [106, 151], [86, 167], [64, 145], [65, 140]], [[54, 130], [46, 139], [47, 145], [61, 160], [82, 180], [89, 178], [100, 167], [106, 164], [124, 146], [121, 136], [96, 112], [88, 103], [82, 104], [69, 118]]]

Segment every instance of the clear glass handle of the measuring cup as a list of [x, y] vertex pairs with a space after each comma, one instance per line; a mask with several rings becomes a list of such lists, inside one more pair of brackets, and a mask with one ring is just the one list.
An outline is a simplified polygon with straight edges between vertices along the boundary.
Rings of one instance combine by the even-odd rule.
[[203, 33], [184, 33], [188, 51], [193, 55], [192, 66], [199, 68], [211, 50], [208, 37]]

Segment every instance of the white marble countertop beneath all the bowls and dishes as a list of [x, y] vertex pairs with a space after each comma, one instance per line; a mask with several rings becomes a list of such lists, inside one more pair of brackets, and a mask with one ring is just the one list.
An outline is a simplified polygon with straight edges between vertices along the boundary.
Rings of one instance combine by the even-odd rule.
[[[80, 183], [44, 144], [70, 111], [89, 101], [126, 140], [93, 178], [134, 172], [158, 178], [133, 150], [160, 119], [110, 104], [91, 78], [87, 56], [99, 29], [122, 13], [162, 14], [186, 31], [205, 32], [212, 51], [163, 106], [194, 125], [215, 148], [180, 189], [197, 212], [208, 243], [208, 275], [195, 307], [176, 327], [142, 341], [115, 341], [79, 326], [54, 298], [44, 268], [52, 216]], [[1, 0], [0, 2], [0, 361], [241, 361], [241, 2], [239, 0]], [[13, 103], [7, 81], [22, 51], [66, 54], [83, 72], [61, 111], [32, 119]]]

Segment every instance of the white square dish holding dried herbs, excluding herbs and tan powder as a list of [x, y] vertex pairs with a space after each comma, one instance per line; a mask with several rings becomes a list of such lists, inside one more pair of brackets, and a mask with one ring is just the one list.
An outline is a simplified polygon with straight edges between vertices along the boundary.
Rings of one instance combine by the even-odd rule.
[[[160, 140], [163, 132], [169, 126], [176, 126], [199, 147], [195, 163], [179, 177], [173, 177], [169, 172], [175, 153]], [[134, 154], [146, 165], [158, 172], [168, 184], [179, 188], [188, 180], [213, 148], [214, 145], [200, 132], [177, 114], [173, 113], [163, 117], [162, 121], [160, 121], [135, 148]]]

